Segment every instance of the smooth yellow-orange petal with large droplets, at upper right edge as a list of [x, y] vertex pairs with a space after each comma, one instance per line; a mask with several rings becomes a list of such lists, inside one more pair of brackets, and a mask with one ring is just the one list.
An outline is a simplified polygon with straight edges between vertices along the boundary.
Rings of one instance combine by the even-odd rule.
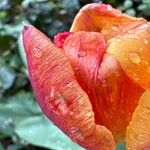
[[113, 54], [131, 80], [150, 88], [150, 24], [109, 41], [107, 52]]

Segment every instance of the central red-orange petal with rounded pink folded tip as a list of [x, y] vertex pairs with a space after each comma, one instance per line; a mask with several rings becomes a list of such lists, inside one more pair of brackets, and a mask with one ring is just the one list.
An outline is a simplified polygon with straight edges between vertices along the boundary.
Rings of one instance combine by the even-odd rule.
[[89, 96], [96, 122], [110, 129], [116, 141], [123, 140], [143, 89], [126, 76], [117, 59], [105, 53], [102, 34], [74, 33], [63, 48], [79, 84]]

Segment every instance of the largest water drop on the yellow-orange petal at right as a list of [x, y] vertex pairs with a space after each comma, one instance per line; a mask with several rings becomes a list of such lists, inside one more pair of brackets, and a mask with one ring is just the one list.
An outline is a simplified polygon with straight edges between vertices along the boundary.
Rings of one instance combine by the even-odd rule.
[[136, 53], [136, 52], [131, 52], [129, 53], [129, 59], [134, 63], [134, 64], [139, 64], [141, 62], [141, 56]]

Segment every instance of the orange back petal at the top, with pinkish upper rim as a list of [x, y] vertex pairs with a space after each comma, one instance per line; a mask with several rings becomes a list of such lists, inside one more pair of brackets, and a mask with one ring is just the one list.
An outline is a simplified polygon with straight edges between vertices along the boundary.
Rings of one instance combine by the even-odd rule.
[[146, 21], [134, 18], [105, 4], [88, 4], [84, 6], [73, 22], [71, 32], [96, 31], [105, 35], [108, 40], [116, 35], [124, 34]]

